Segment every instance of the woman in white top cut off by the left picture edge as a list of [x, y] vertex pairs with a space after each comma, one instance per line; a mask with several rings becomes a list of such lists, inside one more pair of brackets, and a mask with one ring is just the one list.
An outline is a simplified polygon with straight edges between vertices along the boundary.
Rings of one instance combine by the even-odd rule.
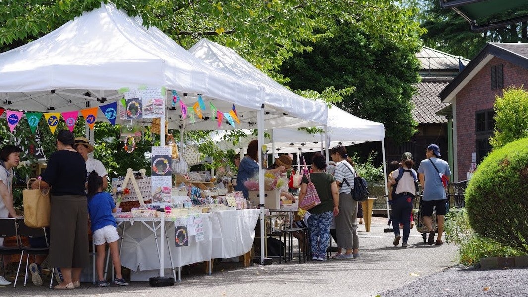
[[[20, 163], [22, 149], [15, 145], [6, 145], [0, 150], [0, 218], [20, 218], [13, 205], [13, 168]], [[4, 245], [4, 237], [0, 238], [0, 246]], [[6, 263], [4, 263], [4, 266]], [[0, 276], [0, 285], [10, 285], [11, 282]]]

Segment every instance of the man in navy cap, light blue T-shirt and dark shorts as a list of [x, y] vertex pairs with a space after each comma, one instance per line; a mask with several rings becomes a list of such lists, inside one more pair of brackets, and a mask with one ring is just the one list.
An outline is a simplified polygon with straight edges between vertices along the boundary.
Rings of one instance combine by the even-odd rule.
[[435, 229], [432, 227], [432, 212], [436, 209], [436, 221], [438, 224], [438, 237], [436, 245], [443, 244], [442, 233], [444, 233], [444, 215], [446, 214], [446, 190], [445, 184], [449, 181], [451, 170], [446, 161], [440, 159], [440, 147], [431, 144], [426, 150], [426, 160], [420, 162], [418, 172], [420, 173], [420, 184], [423, 189], [422, 215], [423, 224], [429, 230], [428, 244], [435, 243]]

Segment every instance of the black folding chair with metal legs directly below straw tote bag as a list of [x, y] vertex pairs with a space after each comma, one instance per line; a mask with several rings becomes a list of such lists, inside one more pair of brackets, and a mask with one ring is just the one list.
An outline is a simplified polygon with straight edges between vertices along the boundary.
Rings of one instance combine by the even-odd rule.
[[[27, 238], [37, 238], [37, 237], [44, 237], [46, 242], [46, 247], [31, 247], [31, 246], [24, 246], [22, 244], [22, 240], [20, 241], [20, 250], [22, 251], [20, 256], [20, 263], [18, 263], [18, 270], [16, 272], [15, 277], [15, 284], [13, 287], [16, 286], [16, 282], [18, 280], [18, 274], [20, 273], [20, 267], [22, 266], [22, 259], [24, 257], [24, 254], [27, 255], [26, 257], [26, 270], [24, 273], [24, 286], [26, 286], [27, 283], [27, 272], [28, 272], [28, 266], [30, 261], [30, 255], [33, 256], [44, 256], [48, 255], [50, 252], [50, 245], [48, 242], [48, 233], [46, 232], [46, 229], [44, 227], [42, 228], [31, 228], [28, 227], [25, 222], [24, 218], [17, 219], [17, 225], [18, 225], [18, 235], [21, 237], [27, 237]], [[51, 281], [50, 281], [50, 287], [53, 284], [53, 273], [55, 272], [55, 268], [52, 268], [51, 270]]]

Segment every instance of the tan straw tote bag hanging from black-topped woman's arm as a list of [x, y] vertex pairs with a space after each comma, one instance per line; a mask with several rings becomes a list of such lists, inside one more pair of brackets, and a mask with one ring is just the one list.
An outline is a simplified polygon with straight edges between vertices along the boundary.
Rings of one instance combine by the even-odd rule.
[[[27, 189], [22, 190], [24, 201], [24, 222], [28, 227], [41, 228], [50, 226], [50, 189], [31, 190], [30, 182], [27, 181]], [[40, 179], [39, 179], [40, 188]]]

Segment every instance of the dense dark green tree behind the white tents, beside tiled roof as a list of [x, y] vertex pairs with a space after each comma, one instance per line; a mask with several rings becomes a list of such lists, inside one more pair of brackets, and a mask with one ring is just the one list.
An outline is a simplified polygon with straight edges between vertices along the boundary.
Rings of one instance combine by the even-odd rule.
[[[292, 89], [318, 92], [333, 86], [355, 88], [336, 105], [354, 115], [385, 125], [385, 135], [397, 142], [416, 133], [411, 97], [419, 82], [420, 49], [414, 43], [372, 36], [352, 25], [342, 25], [328, 40], [310, 43], [311, 52], [297, 54], [281, 67]], [[373, 39], [380, 46], [374, 46]]]

